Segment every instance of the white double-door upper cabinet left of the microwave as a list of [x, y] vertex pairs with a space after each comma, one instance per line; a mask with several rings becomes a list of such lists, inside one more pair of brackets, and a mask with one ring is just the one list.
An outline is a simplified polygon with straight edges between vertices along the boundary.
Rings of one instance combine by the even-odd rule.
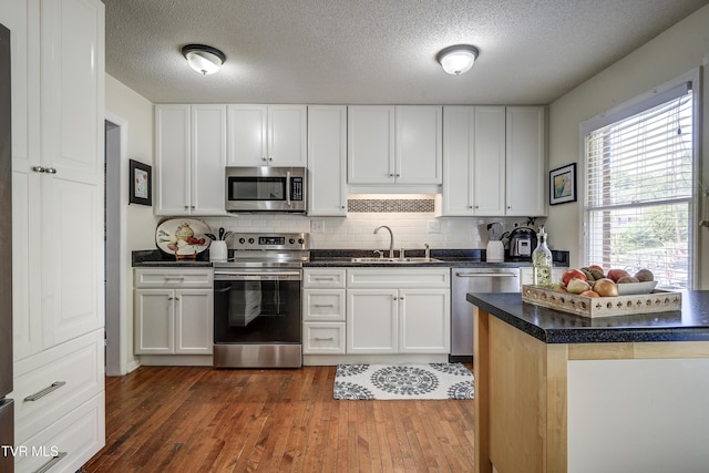
[[156, 215], [224, 215], [226, 105], [155, 105]]

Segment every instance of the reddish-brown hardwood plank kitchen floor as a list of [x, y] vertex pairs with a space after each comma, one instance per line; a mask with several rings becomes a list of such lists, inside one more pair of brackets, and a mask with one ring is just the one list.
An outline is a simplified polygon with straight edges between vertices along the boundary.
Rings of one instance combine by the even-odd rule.
[[335, 371], [106, 378], [106, 446], [84, 472], [473, 471], [472, 400], [336, 401]]

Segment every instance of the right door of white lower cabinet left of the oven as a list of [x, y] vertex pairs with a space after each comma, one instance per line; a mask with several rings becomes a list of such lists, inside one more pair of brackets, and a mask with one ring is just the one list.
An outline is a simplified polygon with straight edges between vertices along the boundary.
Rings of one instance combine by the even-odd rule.
[[175, 291], [175, 353], [212, 354], [213, 297], [212, 290]]

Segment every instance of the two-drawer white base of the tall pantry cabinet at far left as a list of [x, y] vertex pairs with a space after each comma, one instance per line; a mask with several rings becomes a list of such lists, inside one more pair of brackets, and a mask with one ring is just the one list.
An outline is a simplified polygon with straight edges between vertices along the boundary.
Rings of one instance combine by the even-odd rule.
[[103, 329], [14, 364], [16, 471], [78, 471], [104, 445]]

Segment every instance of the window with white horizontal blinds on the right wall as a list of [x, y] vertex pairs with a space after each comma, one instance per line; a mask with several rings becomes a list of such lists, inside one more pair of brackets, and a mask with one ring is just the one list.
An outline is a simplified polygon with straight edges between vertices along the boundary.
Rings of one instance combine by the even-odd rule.
[[582, 125], [585, 258], [604, 269], [650, 269], [692, 287], [696, 227], [691, 82]]

